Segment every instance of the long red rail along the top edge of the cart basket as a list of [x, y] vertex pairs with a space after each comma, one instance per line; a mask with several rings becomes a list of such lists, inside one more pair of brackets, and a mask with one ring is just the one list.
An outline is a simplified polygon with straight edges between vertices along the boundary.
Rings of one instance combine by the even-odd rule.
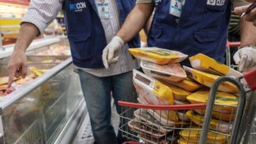
[[181, 104], [181, 105], [153, 105], [139, 104], [133, 102], [118, 101], [119, 106], [142, 109], [157, 109], [157, 110], [190, 110], [190, 109], [205, 109], [205, 104]]

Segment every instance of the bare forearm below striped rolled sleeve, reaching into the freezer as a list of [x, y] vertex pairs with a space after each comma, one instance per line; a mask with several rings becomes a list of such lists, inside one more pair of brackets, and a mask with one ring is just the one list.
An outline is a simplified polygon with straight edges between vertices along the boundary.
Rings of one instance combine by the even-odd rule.
[[28, 49], [29, 45], [35, 38], [35, 36], [40, 33], [36, 26], [29, 23], [23, 23], [20, 26], [19, 36], [17, 38], [17, 42], [15, 44], [15, 51], [23, 51], [25, 52]]

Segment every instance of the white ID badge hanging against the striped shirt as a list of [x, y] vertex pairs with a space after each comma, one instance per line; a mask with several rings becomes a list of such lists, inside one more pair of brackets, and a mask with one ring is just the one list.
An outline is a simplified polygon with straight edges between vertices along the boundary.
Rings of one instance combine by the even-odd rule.
[[109, 19], [109, 2], [108, 0], [96, 0], [97, 10], [100, 19]]

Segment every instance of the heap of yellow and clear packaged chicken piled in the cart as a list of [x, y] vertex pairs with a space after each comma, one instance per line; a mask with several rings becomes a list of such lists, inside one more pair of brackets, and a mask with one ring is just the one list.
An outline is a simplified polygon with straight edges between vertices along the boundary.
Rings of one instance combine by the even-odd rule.
[[[138, 101], [142, 104], [154, 105], [178, 105], [178, 104], [207, 104], [209, 98], [209, 89], [220, 76], [242, 76], [240, 72], [227, 67], [226, 65], [205, 56], [197, 54], [189, 58], [191, 67], [181, 66], [180, 62], [187, 58], [186, 54], [177, 51], [159, 49], [157, 47], [129, 49], [131, 54], [141, 60], [143, 72], [133, 71], [133, 82], [138, 93]], [[212, 131], [229, 134], [232, 129], [232, 121], [236, 116], [237, 106], [237, 88], [231, 83], [222, 83], [218, 89], [220, 92], [216, 95], [215, 106], [211, 120]], [[140, 109], [140, 112], [143, 109]], [[147, 121], [156, 125], [166, 127], [182, 127], [188, 125], [197, 125], [201, 127], [204, 124], [204, 110], [189, 111], [160, 111], [151, 110], [143, 111], [143, 116], [138, 111], [134, 112], [138, 121]], [[146, 118], [145, 118], [146, 117]], [[134, 129], [134, 122], [129, 126]], [[147, 131], [140, 129], [138, 126], [136, 132]], [[160, 134], [157, 131], [162, 131]], [[181, 132], [182, 133], [182, 132]], [[179, 134], [177, 143], [198, 143], [199, 139], [186, 138], [186, 131]], [[195, 132], [191, 132], [194, 134]], [[163, 138], [168, 135], [168, 131], [157, 129], [154, 134], [157, 138]], [[211, 141], [212, 133], [209, 134]], [[150, 136], [150, 135], [149, 135]], [[227, 136], [223, 140], [222, 135], [218, 135], [218, 143], [227, 141]], [[193, 136], [191, 135], [191, 138]]]

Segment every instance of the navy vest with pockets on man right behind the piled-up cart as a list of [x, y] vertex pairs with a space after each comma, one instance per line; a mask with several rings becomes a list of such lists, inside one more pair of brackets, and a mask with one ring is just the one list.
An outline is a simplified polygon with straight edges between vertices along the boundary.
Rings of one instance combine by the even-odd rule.
[[[154, 0], [156, 13], [148, 46], [206, 54], [223, 62], [232, 4], [229, 0], [186, 0], [179, 22], [169, 14], [171, 0]], [[173, 0], [172, 0], [173, 1]], [[184, 65], [189, 65], [186, 60]]]

